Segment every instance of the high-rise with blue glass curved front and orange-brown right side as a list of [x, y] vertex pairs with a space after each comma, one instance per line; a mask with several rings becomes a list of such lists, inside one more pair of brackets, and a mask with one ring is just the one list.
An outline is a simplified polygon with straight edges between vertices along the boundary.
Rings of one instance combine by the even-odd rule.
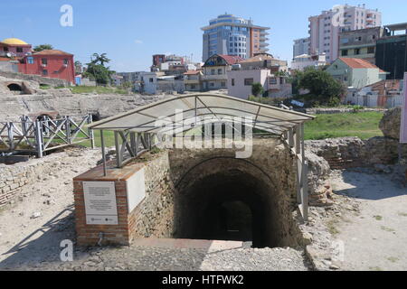
[[254, 25], [251, 20], [222, 14], [209, 22], [204, 31], [203, 61], [215, 54], [247, 59], [256, 53], [269, 51], [269, 27]]

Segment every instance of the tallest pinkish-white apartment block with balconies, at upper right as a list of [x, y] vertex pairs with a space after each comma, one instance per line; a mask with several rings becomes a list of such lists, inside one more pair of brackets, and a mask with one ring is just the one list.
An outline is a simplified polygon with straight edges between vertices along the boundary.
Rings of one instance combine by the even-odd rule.
[[327, 54], [327, 62], [339, 57], [339, 33], [382, 25], [382, 14], [365, 5], [336, 5], [329, 11], [309, 17], [310, 54]]

